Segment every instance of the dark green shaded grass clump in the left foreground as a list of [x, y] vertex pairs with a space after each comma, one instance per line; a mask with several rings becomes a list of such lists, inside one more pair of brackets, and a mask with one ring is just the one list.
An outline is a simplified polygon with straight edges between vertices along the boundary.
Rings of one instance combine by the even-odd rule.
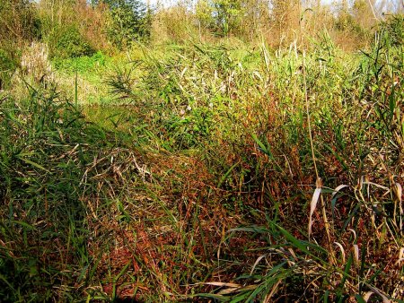
[[0, 250], [0, 299], [83, 298], [83, 269], [95, 260], [86, 247], [82, 198], [97, 190], [83, 177], [91, 178], [94, 157], [117, 142], [56, 91], [2, 101], [0, 237], [7, 248]]

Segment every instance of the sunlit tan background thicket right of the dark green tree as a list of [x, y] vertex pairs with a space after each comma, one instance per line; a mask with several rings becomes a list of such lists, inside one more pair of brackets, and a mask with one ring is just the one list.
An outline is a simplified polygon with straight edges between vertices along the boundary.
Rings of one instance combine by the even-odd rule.
[[[308, 42], [319, 30], [327, 28], [340, 45], [358, 48], [370, 40], [373, 26], [382, 18], [383, 10], [389, 10], [381, 5], [356, 0], [351, 6], [343, 3], [331, 10], [316, 1], [198, 0], [180, 2], [175, 9], [183, 10], [182, 18], [190, 20], [189, 27], [182, 30], [203, 38], [212, 34], [249, 41], [263, 38], [271, 46], [279, 47], [288, 46], [295, 39], [300, 43]], [[178, 22], [179, 18], [181, 16], [173, 14], [171, 21]], [[163, 24], [163, 28], [167, 28], [169, 22]], [[175, 36], [185, 35], [177, 32]], [[359, 45], [358, 40], [364, 44]]]

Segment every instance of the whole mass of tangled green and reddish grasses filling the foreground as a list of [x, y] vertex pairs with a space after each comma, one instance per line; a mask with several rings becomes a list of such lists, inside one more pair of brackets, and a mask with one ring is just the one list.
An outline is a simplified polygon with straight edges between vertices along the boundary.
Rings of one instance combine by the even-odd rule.
[[327, 35], [305, 55], [145, 51], [110, 74], [122, 108], [2, 97], [4, 301], [401, 299], [387, 29], [355, 57]]

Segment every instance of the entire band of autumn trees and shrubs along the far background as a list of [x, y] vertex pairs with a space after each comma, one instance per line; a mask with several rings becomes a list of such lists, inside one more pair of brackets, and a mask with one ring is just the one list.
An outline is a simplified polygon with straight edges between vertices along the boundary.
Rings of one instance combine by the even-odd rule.
[[[376, 15], [376, 3], [364, 0], [356, 0], [351, 7], [341, 5], [337, 13], [317, 2], [296, 0], [198, 0], [157, 10], [139, 0], [94, 0], [91, 4], [84, 0], [2, 0], [0, 9], [11, 12], [2, 18], [4, 41], [41, 39], [48, 42], [51, 56], [71, 57], [128, 48], [135, 41], [149, 42], [151, 36], [155, 42], [164, 36], [174, 41], [210, 35], [249, 41], [264, 38], [272, 46], [287, 46], [298, 37], [307, 42], [324, 28], [339, 35], [341, 43], [350, 36], [355, 37], [356, 47], [362, 47], [357, 40], [369, 41], [373, 26], [382, 18], [380, 12], [387, 8], [378, 7]], [[347, 47], [352, 47], [351, 42], [346, 41]]]

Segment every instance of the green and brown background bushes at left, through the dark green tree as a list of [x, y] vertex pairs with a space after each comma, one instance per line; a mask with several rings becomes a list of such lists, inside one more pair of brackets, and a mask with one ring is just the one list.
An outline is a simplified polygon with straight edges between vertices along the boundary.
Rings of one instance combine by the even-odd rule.
[[0, 0], [0, 90], [24, 69], [32, 43], [61, 60], [127, 49], [150, 38], [153, 12], [137, 0]]

